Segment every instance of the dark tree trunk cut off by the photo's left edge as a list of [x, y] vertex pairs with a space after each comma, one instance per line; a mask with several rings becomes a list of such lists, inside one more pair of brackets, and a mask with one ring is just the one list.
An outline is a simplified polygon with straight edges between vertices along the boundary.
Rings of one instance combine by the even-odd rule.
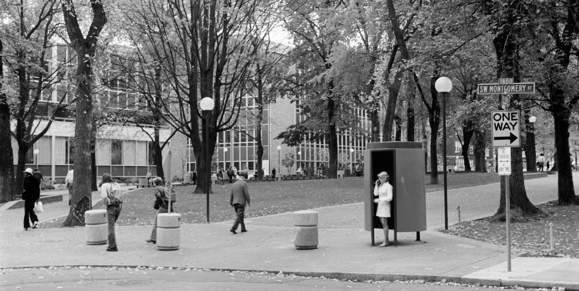
[[[0, 39], [0, 78], [4, 77], [3, 43]], [[10, 106], [0, 82], [0, 203], [13, 200], [14, 154], [10, 135]]]

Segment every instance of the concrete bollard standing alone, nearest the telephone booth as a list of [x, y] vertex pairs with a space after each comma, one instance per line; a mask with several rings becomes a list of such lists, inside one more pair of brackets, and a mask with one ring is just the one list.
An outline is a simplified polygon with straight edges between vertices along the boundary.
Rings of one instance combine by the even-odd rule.
[[296, 249], [318, 248], [318, 212], [294, 212], [294, 245]]

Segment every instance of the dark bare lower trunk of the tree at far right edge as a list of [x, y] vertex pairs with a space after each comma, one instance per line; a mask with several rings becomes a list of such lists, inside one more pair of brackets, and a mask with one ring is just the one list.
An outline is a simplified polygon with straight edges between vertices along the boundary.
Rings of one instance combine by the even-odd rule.
[[579, 197], [575, 194], [573, 186], [573, 171], [569, 157], [569, 112], [568, 110], [554, 110], [555, 121], [555, 148], [557, 172], [557, 186], [559, 187], [559, 204], [579, 205]]

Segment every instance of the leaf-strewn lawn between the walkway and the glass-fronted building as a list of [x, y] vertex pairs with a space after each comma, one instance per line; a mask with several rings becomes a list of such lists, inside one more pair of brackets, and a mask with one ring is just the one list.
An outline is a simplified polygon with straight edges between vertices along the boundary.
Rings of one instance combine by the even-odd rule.
[[[485, 185], [498, 182], [494, 173], [464, 173], [448, 175], [449, 189]], [[442, 175], [438, 185], [430, 185], [430, 176], [426, 177], [426, 191], [442, 190]], [[232, 220], [234, 213], [229, 206], [230, 184], [213, 185], [210, 196], [210, 220], [220, 222]], [[324, 207], [329, 205], [348, 204], [362, 201], [364, 188], [363, 178], [346, 179], [311, 179], [283, 182], [249, 182], [251, 207], [247, 217], [264, 216], [275, 213]], [[193, 194], [195, 186], [178, 186], [175, 212], [181, 213], [183, 223], [206, 222], [206, 195]], [[124, 196], [123, 212], [117, 223], [121, 226], [152, 224], [155, 214], [153, 209], [153, 189], [141, 188]], [[99, 204], [97, 209], [104, 209]], [[60, 227], [64, 218], [41, 223], [42, 227]]]

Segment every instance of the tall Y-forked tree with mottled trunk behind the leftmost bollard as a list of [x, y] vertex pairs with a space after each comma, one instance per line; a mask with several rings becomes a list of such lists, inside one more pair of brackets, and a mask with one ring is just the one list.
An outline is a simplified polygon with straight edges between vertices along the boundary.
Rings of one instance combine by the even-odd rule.
[[[100, 0], [90, 0], [92, 21], [86, 38], [80, 30], [79, 17], [73, 0], [61, 0], [64, 21], [71, 47], [76, 51], [76, 124], [75, 124], [75, 181], [91, 181], [91, 141], [93, 125], [93, 64], [98, 36], [107, 23]], [[90, 183], [73, 184], [71, 208], [63, 226], [82, 226], [85, 211], [92, 208]]]

